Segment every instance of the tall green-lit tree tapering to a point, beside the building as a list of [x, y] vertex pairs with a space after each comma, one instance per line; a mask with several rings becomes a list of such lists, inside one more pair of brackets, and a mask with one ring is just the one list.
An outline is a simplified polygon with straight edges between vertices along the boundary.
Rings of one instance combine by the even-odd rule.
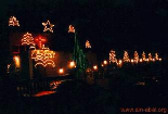
[[77, 33], [75, 33], [75, 46], [74, 46], [74, 53], [73, 60], [76, 62], [76, 77], [81, 78], [82, 73], [85, 73], [88, 63], [86, 54], [83, 53], [82, 49], [79, 46], [79, 40], [77, 39]]

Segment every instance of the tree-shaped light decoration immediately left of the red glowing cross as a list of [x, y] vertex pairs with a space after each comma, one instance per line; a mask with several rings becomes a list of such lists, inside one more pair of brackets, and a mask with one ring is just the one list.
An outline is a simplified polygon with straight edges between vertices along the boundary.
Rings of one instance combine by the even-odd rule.
[[26, 33], [22, 38], [22, 46], [35, 46], [35, 41], [31, 34]]

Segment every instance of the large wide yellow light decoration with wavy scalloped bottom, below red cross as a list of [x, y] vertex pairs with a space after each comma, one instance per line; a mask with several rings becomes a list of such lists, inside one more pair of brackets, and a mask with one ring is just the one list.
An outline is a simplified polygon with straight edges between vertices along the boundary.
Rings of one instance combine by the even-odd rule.
[[51, 65], [55, 67], [55, 63], [53, 59], [55, 58], [55, 52], [51, 51], [50, 49], [42, 49], [42, 50], [33, 50], [31, 51], [31, 59], [35, 60], [36, 64], [35, 67], [38, 65], [42, 65], [46, 67], [47, 65]]

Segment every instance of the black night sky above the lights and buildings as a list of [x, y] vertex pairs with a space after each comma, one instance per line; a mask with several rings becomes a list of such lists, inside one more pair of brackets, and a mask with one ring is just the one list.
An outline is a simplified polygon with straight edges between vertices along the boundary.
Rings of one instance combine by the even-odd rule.
[[21, 24], [12, 31], [21, 33], [42, 33], [41, 23], [50, 20], [55, 25], [53, 43], [60, 39], [67, 48], [72, 47], [67, 27], [73, 24], [81, 45], [89, 39], [100, 53], [111, 49], [168, 52], [168, 0], [5, 0], [0, 7], [4, 42], [12, 15]]

